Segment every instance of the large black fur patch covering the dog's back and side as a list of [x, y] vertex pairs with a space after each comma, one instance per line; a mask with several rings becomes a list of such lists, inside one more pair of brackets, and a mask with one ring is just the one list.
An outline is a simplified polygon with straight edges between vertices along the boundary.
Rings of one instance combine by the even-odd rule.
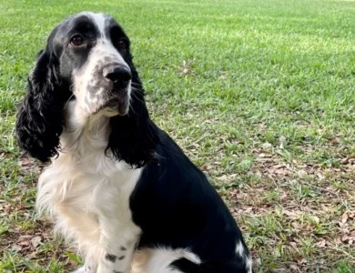
[[249, 251], [228, 207], [180, 147], [164, 131], [157, 133], [158, 162], [146, 165], [130, 199], [133, 220], [143, 230], [138, 248], [191, 249], [206, 262], [171, 265], [186, 273], [247, 272]]

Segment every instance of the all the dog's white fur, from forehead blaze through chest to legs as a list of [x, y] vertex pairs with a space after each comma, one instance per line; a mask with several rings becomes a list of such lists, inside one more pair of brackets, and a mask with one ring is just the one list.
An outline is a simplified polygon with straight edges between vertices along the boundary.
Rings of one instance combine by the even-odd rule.
[[[110, 157], [106, 147], [109, 116], [113, 113], [107, 109], [96, 111], [102, 103], [100, 96], [91, 98], [91, 105], [86, 104], [86, 86], [95, 80], [93, 74], [100, 60], [108, 56], [127, 64], [105, 36], [104, 15], [86, 15], [92, 17], [102, 35], [86, 64], [73, 75], [76, 99], [66, 104], [61, 150], [39, 177], [36, 206], [53, 217], [56, 232], [84, 256], [85, 266], [76, 272], [127, 273], [141, 234], [132, 221], [129, 197], [142, 168], [132, 168]], [[96, 94], [105, 91], [97, 90]], [[147, 259], [139, 264], [139, 273], [168, 273], [169, 264], [177, 258], [200, 263], [187, 249], [147, 248], [140, 253], [145, 253]]]

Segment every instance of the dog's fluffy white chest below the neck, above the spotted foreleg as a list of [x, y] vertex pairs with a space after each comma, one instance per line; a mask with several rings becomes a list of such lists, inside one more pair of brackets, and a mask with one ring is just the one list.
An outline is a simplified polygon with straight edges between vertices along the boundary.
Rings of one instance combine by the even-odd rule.
[[105, 155], [75, 162], [61, 154], [39, 178], [37, 206], [48, 210], [57, 231], [79, 248], [102, 244], [103, 222], [112, 232], [134, 237], [140, 228], [132, 221], [129, 198], [140, 174]]

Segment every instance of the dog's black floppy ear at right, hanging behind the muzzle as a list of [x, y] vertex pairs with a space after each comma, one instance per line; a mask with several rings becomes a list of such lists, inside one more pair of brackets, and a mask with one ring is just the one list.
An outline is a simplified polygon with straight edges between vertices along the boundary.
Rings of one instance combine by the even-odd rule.
[[110, 118], [111, 133], [107, 150], [118, 160], [125, 160], [132, 167], [143, 167], [155, 158], [158, 128], [150, 120], [144, 98], [144, 89], [133, 65], [132, 56], [127, 60], [132, 73], [132, 92], [129, 112], [126, 116]]

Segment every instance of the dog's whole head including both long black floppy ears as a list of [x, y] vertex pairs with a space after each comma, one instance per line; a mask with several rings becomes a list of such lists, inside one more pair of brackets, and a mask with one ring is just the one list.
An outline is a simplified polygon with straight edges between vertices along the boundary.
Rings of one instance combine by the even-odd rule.
[[123, 28], [109, 15], [85, 12], [57, 25], [28, 76], [16, 123], [21, 147], [42, 161], [56, 156], [64, 108], [76, 100], [80, 116], [111, 117], [107, 148], [114, 156], [131, 165], [146, 163], [157, 137], [149, 133], [154, 125], [129, 46]]

